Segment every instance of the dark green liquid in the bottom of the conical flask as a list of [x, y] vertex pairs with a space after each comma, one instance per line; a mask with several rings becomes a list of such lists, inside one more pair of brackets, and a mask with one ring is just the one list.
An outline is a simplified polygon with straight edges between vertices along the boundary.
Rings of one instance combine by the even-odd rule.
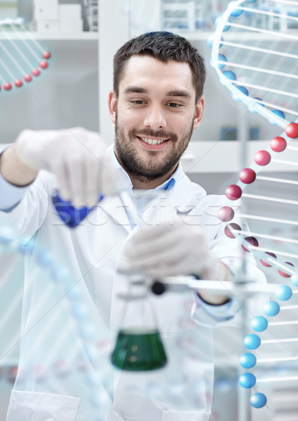
[[121, 370], [130, 371], [155, 370], [165, 366], [167, 357], [158, 330], [120, 330], [111, 363]]

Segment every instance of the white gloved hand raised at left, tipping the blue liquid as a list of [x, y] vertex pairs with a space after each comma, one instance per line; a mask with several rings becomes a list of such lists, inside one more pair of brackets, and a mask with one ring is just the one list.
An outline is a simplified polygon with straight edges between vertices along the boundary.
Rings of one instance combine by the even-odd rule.
[[114, 194], [120, 187], [99, 133], [80, 127], [25, 130], [15, 152], [30, 168], [55, 174], [60, 195], [74, 206], [95, 206], [99, 194]]

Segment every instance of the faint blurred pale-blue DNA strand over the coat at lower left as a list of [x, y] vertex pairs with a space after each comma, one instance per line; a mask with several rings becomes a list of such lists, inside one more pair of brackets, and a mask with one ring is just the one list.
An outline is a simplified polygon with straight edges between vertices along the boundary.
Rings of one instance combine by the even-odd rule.
[[[62, 260], [57, 262], [48, 248], [39, 248], [34, 259], [34, 266], [41, 269], [39, 302], [36, 302], [32, 319], [22, 329], [14, 329], [15, 309], [22, 305], [23, 275], [18, 263], [22, 263], [27, 248], [34, 247], [34, 241], [27, 243], [24, 239], [9, 239], [9, 230], [1, 226], [0, 255], [4, 269], [1, 272], [1, 312], [0, 361], [5, 361], [19, 342], [27, 339], [29, 347], [20, 366], [8, 365], [0, 373], [8, 383], [15, 382], [18, 387], [26, 387], [27, 378], [34, 379], [37, 387], [65, 393], [65, 382], [80, 382], [86, 390], [85, 413], [91, 421], [104, 420], [111, 406], [113, 396], [113, 373], [110, 364], [111, 342], [109, 331], [104, 324], [95, 324], [93, 309], [86, 301], [86, 286], [82, 279], [76, 279], [69, 267]], [[16, 259], [20, 259], [20, 262]], [[15, 265], [15, 266], [14, 266]], [[25, 288], [31, 288], [30, 282]], [[49, 302], [49, 297], [54, 299]], [[4, 301], [9, 297], [9, 306]], [[6, 329], [15, 330], [14, 335], [6, 335]], [[39, 343], [46, 340], [51, 331], [56, 331], [57, 341], [50, 343], [46, 354], [38, 351]], [[31, 336], [32, 335], [32, 336]], [[5, 343], [4, 338], [10, 339]], [[36, 339], [38, 338], [38, 339]], [[25, 347], [27, 345], [25, 344]], [[31, 348], [31, 349], [30, 349]], [[43, 348], [44, 350], [44, 348]], [[96, 370], [94, 370], [94, 367]], [[99, 393], [98, 388], [104, 385], [107, 393]]]

